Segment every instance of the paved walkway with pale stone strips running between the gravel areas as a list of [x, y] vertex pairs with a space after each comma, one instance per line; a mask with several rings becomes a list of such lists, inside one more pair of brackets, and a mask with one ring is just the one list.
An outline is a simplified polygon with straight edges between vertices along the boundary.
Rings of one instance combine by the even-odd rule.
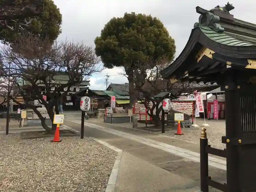
[[[195, 192], [200, 191], [199, 146], [169, 138], [85, 120], [84, 134], [121, 151], [115, 192]], [[65, 118], [64, 126], [80, 132], [79, 117]], [[225, 182], [226, 161], [209, 158], [209, 175]], [[210, 189], [210, 192], [219, 192]]]

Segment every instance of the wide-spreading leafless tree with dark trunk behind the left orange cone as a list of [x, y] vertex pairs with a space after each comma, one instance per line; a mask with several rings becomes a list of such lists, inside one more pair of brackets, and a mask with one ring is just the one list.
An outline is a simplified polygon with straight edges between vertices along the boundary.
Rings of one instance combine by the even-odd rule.
[[[31, 101], [38, 100], [44, 105], [53, 121], [53, 106], [58, 113], [57, 102], [67, 96], [71, 86], [102, 71], [94, 49], [83, 43], [64, 41], [52, 45], [48, 39], [42, 41], [38, 37], [24, 36], [13, 48], [4, 46], [2, 54], [3, 71], [16, 79], [15, 85], [25, 101], [24, 105], [34, 110], [47, 131], [54, 131], [56, 126], [49, 128]], [[60, 76], [68, 76], [65, 84], [58, 80]], [[46, 102], [43, 95], [51, 98], [51, 102]], [[17, 102], [14, 96], [12, 99]]]

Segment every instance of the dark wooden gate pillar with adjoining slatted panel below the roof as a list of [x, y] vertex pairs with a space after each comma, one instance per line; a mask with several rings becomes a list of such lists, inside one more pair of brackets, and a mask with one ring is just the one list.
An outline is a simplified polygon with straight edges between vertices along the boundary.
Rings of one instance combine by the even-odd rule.
[[225, 74], [227, 192], [256, 191], [256, 86], [244, 71]]

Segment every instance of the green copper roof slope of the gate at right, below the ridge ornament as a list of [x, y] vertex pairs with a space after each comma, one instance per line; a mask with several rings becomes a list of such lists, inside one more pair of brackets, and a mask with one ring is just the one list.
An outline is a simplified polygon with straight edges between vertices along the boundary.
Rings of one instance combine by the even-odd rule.
[[207, 37], [218, 43], [229, 46], [255, 46], [256, 38], [247, 37], [235, 33], [224, 31], [223, 33], [217, 33], [210, 27], [200, 27]]

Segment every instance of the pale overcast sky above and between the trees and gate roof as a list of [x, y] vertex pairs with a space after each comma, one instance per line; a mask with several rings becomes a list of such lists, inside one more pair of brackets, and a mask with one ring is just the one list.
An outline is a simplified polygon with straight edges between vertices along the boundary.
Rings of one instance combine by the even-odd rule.
[[[235, 7], [230, 11], [235, 18], [256, 23], [255, 2], [253, 0], [232, 0]], [[151, 14], [159, 18], [176, 42], [176, 57], [186, 45], [199, 14], [196, 6], [210, 10], [217, 5], [225, 6], [223, 0], [54, 0], [63, 16], [62, 33], [58, 40], [68, 39], [94, 46], [104, 25], [113, 17], [122, 17], [125, 12]], [[125, 83], [127, 78], [118, 75], [122, 68], [105, 69], [90, 79], [90, 89], [105, 90], [105, 75], [109, 82]]]

